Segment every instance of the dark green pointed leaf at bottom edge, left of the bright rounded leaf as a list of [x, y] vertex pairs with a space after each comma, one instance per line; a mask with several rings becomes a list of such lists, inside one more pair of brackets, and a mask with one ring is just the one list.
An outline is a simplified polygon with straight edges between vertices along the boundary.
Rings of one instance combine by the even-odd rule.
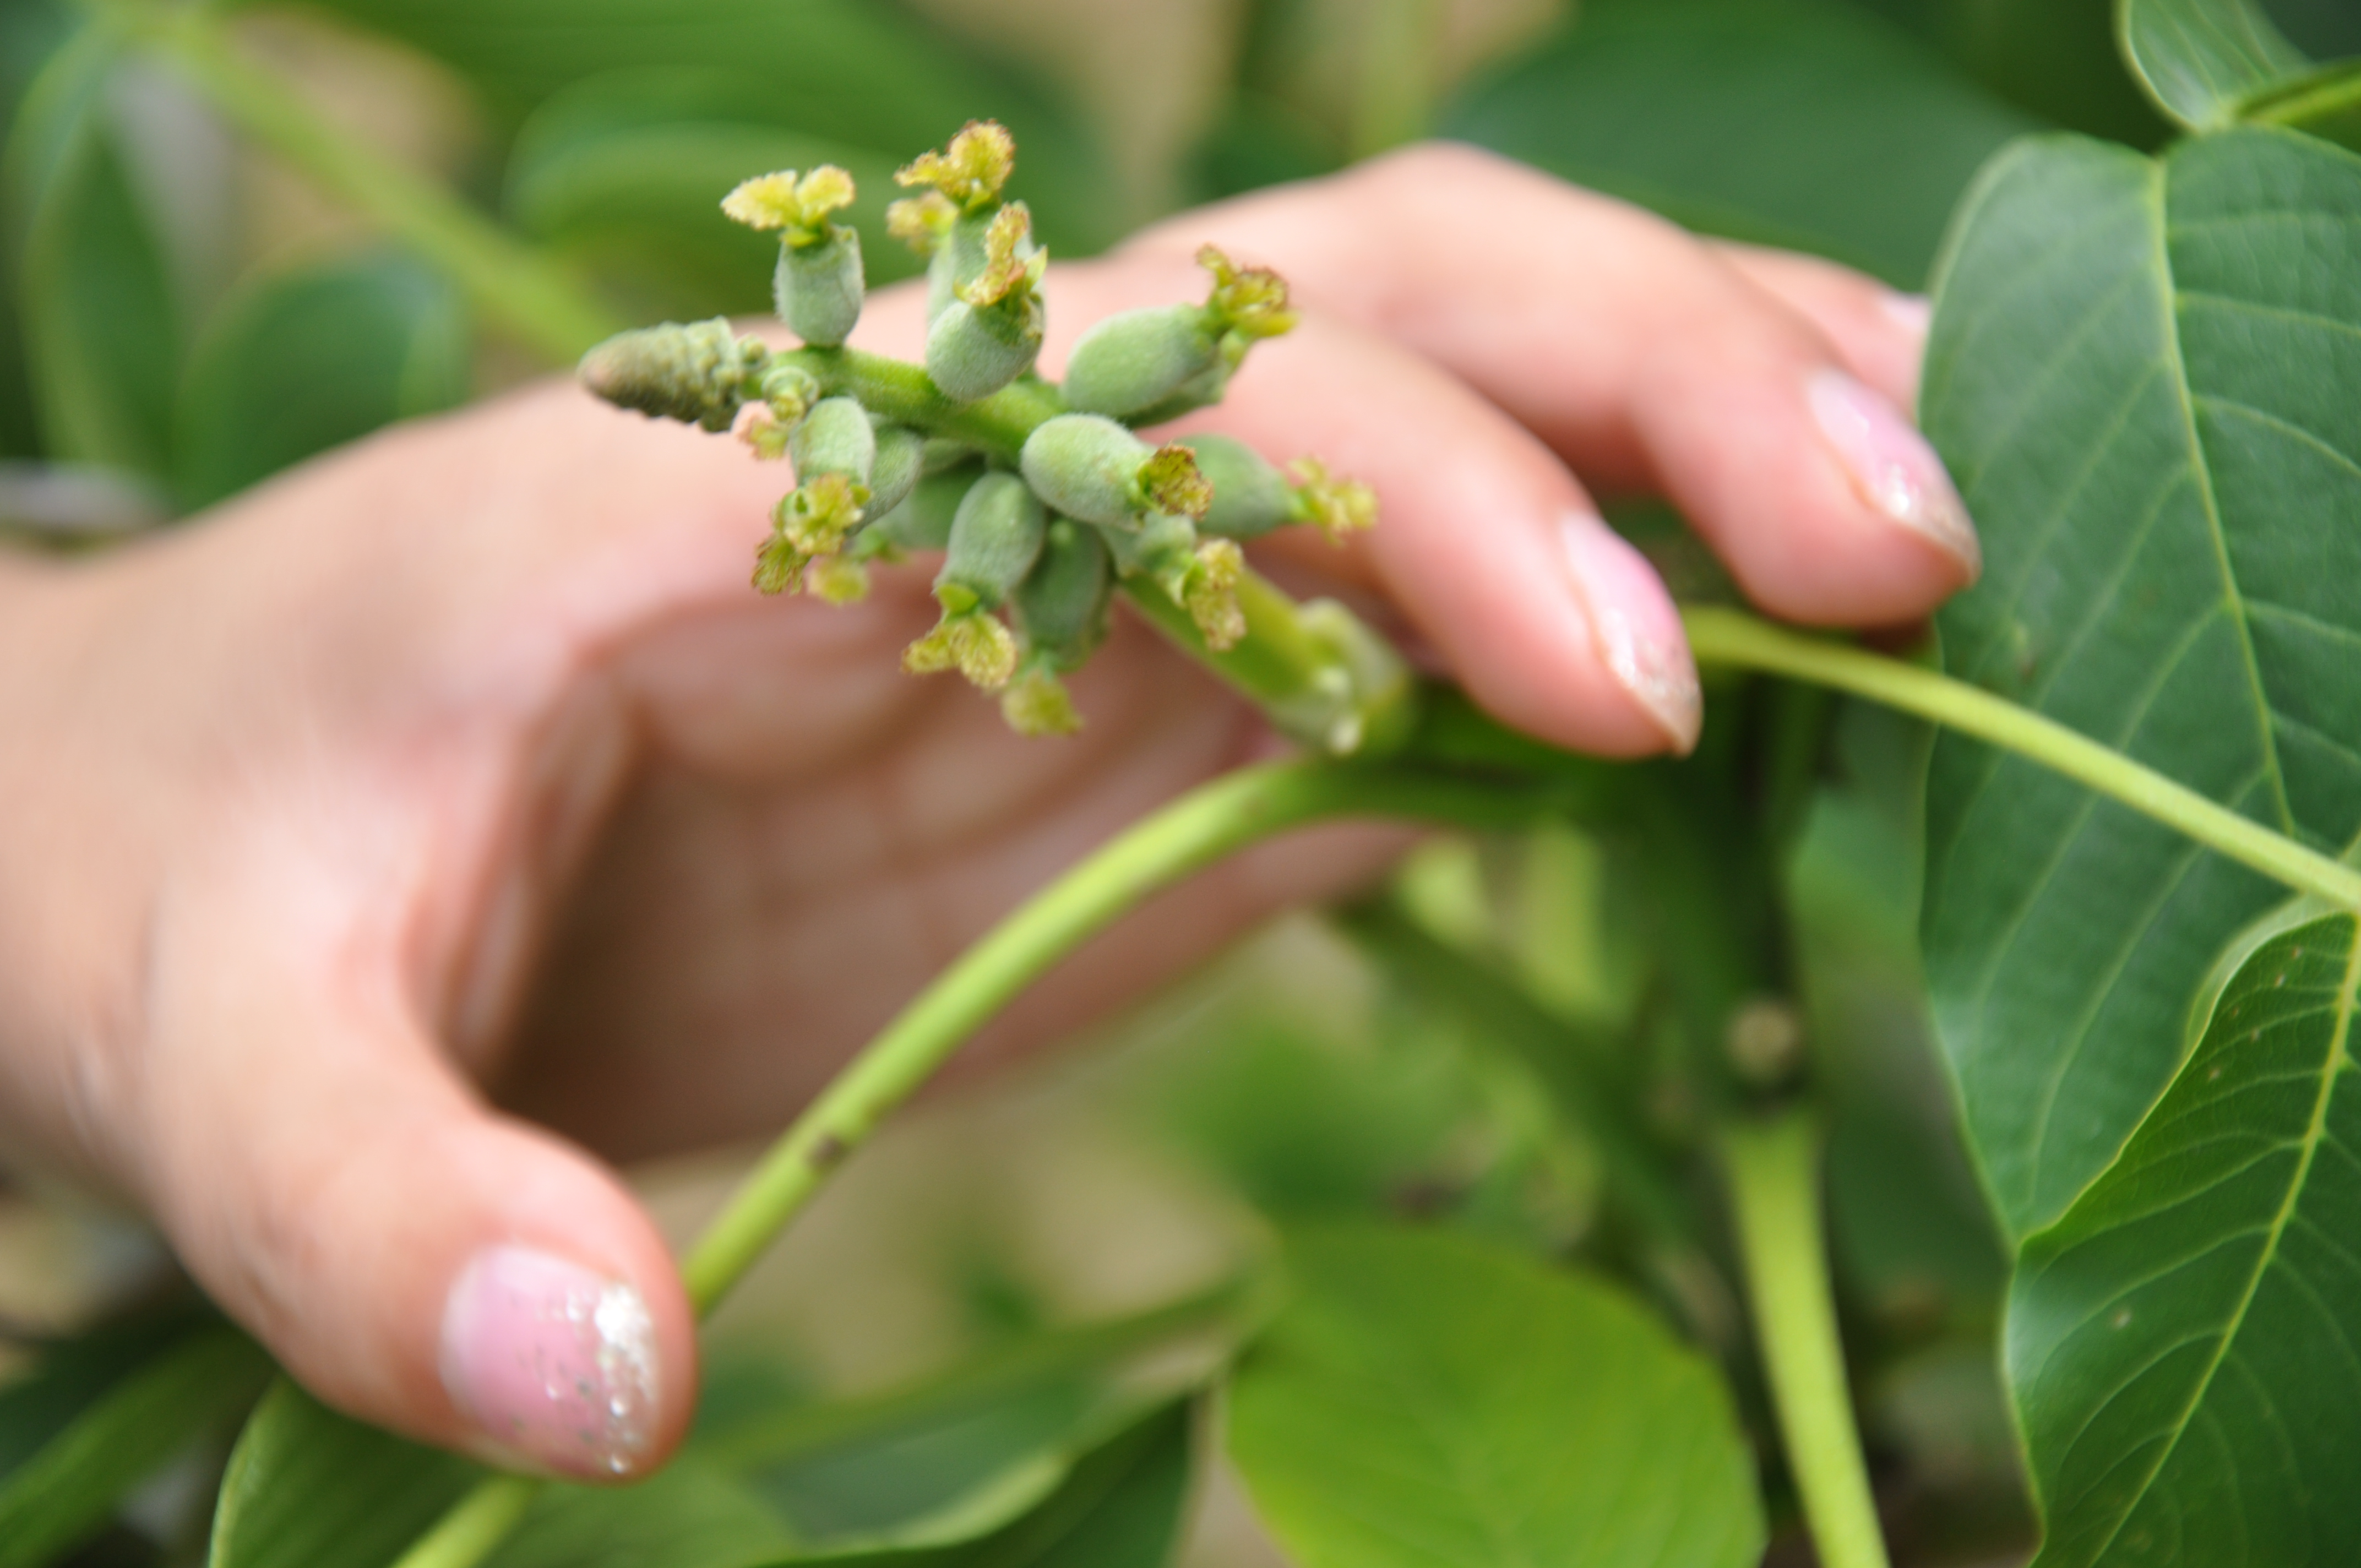
[[1195, 1469], [1195, 1405], [1164, 1405], [1107, 1438], [1055, 1492], [970, 1542], [921, 1551], [798, 1556], [831, 1568], [1164, 1568]]

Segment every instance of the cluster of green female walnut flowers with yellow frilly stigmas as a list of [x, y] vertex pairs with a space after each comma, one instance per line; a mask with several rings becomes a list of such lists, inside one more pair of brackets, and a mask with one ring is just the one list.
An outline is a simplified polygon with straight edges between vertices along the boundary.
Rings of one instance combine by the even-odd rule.
[[1048, 255], [1025, 203], [1003, 201], [1013, 168], [1008, 132], [975, 123], [897, 175], [918, 194], [892, 203], [888, 231], [928, 255], [923, 373], [841, 347], [862, 283], [857, 241], [833, 215], [855, 189], [843, 170], [817, 168], [748, 179], [722, 203], [779, 231], [779, 314], [803, 349], [772, 352], [727, 321], [661, 326], [593, 349], [583, 380], [621, 406], [734, 430], [758, 458], [793, 460], [796, 489], [756, 555], [763, 593], [852, 602], [874, 562], [940, 550], [940, 616], [902, 666], [959, 671], [996, 692], [1022, 734], [1081, 725], [1065, 680], [1107, 635], [1124, 588], [1216, 656], [1254, 642], [1256, 614], [1287, 616], [1261, 635], [1317, 668], [1265, 706], [1289, 732], [1350, 751], [1360, 694], [1405, 680], [1400, 661], [1336, 605], [1242, 595], [1237, 541], [1291, 522], [1332, 538], [1367, 527], [1369, 489], [1315, 458], [1282, 472], [1230, 437], [1157, 446], [1138, 435], [1218, 401], [1247, 352], [1294, 326], [1287, 283], [1206, 246], [1202, 305], [1100, 321], [1062, 387], [1051, 385], [1034, 373]]

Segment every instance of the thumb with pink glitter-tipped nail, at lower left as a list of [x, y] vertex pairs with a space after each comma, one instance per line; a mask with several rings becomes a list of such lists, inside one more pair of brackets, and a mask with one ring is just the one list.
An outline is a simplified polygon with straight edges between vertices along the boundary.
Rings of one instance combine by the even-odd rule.
[[489, 1112], [392, 980], [354, 997], [319, 982], [333, 963], [288, 968], [158, 954], [142, 1178], [189, 1270], [354, 1417], [517, 1469], [659, 1464], [696, 1346], [649, 1219]]

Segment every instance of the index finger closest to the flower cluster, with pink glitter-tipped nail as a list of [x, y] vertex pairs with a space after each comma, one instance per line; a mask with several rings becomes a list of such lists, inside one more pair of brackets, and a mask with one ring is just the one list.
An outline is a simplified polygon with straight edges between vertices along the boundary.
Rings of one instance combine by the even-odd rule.
[[[1096, 305], [1143, 276], [1084, 269], [1062, 300]], [[1369, 567], [1504, 723], [1603, 756], [1695, 744], [1698, 678], [1665, 583], [1565, 463], [1466, 385], [1306, 316], [1190, 425], [1372, 484], [1384, 522], [1362, 543]]]

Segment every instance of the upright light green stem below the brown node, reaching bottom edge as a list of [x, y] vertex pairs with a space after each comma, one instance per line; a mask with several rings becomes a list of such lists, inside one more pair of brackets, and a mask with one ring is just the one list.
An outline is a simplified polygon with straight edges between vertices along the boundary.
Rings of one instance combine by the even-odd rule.
[[1738, 1252], [1787, 1469], [1825, 1568], [1886, 1568], [1820, 1235], [1820, 1129], [1787, 1108], [1724, 1131]]

